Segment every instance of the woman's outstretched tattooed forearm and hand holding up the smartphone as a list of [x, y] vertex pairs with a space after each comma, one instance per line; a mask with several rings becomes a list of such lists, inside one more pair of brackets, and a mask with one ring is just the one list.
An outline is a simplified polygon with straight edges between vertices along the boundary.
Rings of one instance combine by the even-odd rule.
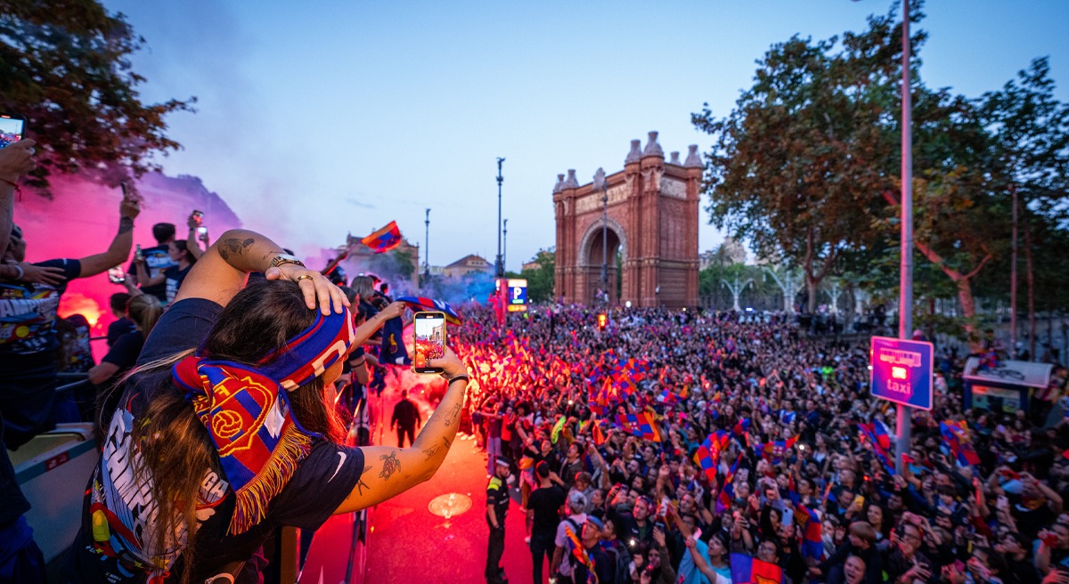
[[[467, 374], [467, 367], [448, 348], [444, 358], [428, 361], [428, 366], [441, 367], [441, 377], [446, 379]], [[410, 447], [361, 447], [367, 464], [363, 476], [335, 514], [358, 511], [376, 505], [434, 476], [456, 439], [466, 391], [467, 381], [464, 379], [449, 384], [438, 409], [427, 421]]]

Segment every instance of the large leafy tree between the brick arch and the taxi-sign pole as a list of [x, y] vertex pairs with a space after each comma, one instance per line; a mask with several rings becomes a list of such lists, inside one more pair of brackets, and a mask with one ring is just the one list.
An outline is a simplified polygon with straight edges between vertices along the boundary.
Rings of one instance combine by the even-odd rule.
[[[801, 267], [810, 311], [840, 255], [872, 243], [869, 207], [892, 184], [887, 157], [878, 156], [888, 140], [886, 95], [868, 92], [894, 65], [865, 72], [877, 56], [893, 62], [894, 51], [876, 42], [893, 30], [889, 16], [870, 18], [868, 34], [848, 35], [845, 48], [835, 37], [773, 45], [727, 117], [708, 105], [692, 115], [716, 137], [704, 183], [711, 221], [753, 241], [758, 255]], [[864, 50], [865, 62], [852, 58]]]

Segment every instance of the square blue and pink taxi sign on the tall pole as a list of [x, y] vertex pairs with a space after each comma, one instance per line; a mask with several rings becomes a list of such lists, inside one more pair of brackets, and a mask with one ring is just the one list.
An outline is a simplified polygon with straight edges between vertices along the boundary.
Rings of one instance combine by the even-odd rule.
[[932, 344], [873, 336], [869, 350], [872, 395], [917, 408], [932, 409]]

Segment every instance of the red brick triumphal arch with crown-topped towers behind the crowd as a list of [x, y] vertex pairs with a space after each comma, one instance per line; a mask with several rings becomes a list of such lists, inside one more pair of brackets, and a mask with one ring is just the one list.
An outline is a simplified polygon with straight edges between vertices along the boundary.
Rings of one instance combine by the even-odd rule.
[[[553, 203], [557, 218], [554, 291], [564, 302], [597, 303], [602, 286], [602, 233], [608, 256], [610, 303], [637, 306], [695, 306], [698, 303], [698, 200], [702, 163], [698, 147], [686, 160], [665, 161], [657, 132], [640, 148], [631, 141], [623, 170], [606, 176], [608, 220], [602, 191], [579, 185], [575, 171], [557, 175]], [[618, 273], [617, 264], [622, 267]], [[619, 282], [619, 293], [617, 283]]]

